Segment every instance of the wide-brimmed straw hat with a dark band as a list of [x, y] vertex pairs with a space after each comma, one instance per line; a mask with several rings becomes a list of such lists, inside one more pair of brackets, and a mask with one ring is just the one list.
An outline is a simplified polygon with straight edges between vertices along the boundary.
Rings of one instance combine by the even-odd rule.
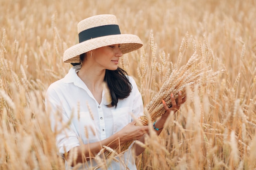
[[115, 15], [96, 15], [77, 24], [79, 44], [64, 52], [63, 62], [80, 63], [80, 55], [88, 51], [120, 44], [123, 54], [139, 49], [142, 42], [136, 35], [121, 34]]

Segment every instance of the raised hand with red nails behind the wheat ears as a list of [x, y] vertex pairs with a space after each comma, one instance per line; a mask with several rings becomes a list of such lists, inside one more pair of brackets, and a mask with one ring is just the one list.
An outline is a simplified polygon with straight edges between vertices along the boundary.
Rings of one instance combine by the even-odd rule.
[[175, 98], [174, 98], [173, 93], [171, 93], [171, 103], [172, 103], [172, 107], [171, 108], [168, 108], [167, 104], [163, 100], [164, 109], [166, 110], [167, 115], [169, 115], [172, 110], [174, 111], [174, 113], [177, 112], [177, 110], [180, 109], [180, 106], [184, 102], [186, 102], [186, 96], [182, 98], [182, 93], [181, 92], [178, 93], [178, 101], [177, 101], [177, 103], [175, 102]]

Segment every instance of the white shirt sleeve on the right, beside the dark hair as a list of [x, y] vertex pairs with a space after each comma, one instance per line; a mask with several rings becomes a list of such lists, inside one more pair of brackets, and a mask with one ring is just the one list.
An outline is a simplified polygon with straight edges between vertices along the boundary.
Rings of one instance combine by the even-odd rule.
[[[129, 76], [129, 81], [132, 84], [132, 92], [131, 92], [131, 95], [133, 97], [132, 114], [134, 115], [134, 117], [139, 118], [144, 113], [144, 106], [143, 106], [141, 93], [139, 92], [139, 89], [137, 87], [135, 80], [131, 76]], [[132, 119], [132, 121], [133, 120], [134, 119]]]

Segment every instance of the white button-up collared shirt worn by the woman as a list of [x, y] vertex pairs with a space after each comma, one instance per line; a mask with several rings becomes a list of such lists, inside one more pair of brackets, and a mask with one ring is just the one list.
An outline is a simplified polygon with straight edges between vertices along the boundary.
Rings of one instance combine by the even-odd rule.
[[[55, 132], [60, 130], [56, 136], [56, 144], [58, 154], [62, 157], [71, 148], [79, 146], [81, 144], [79, 140], [82, 144], [88, 144], [106, 139], [130, 123], [134, 118], [132, 115], [139, 117], [143, 114], [141, 94], [132, 77], [128, 76], [132, 84], [130, 95], [119, 100], [117, 108], [108, 108], [106, 106], [109, 104], [108, 90], [103, 88], [102, 100], [99, 104], [78, 77], [77, 71], [72, 67], [63, 79], [51, 84], [45, 98], [52, 130]], [[63, 129], [68, 122], [70, 122], [69, 128]], [[130, 148], [120, 159], [123, 161], [112, 161], [108, 169], [137, 169]], [[67, 162], [65, 164], [66, 169], [72, 169], [67, 166]], [[92, 159], [92, 164], [87, 161], [83, 166], [87, 167], [83, 169], [90, 169], [97, 166], [97, 163]]]

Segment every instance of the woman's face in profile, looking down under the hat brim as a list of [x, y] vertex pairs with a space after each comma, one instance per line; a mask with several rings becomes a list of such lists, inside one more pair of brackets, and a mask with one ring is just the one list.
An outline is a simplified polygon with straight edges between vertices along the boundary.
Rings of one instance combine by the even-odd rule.
[[[119, 63], [119, 57], [122, 57], [123, 53], [119, 49], [119, 44], [113, 44], [110, 46], [103, 46], [99, 49], [92, 50], [92, 60], [94, 60], [96, 66], [103, 69], [116, 70]], [[90, 57], [90, 53], [88, 53]]]

